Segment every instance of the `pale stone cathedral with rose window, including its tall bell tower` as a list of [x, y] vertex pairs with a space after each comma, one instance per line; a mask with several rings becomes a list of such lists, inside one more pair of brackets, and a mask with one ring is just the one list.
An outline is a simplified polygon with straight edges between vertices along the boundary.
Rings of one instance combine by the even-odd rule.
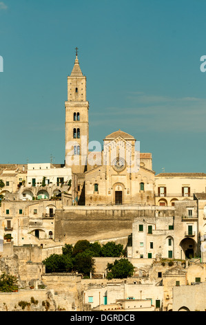
[[114, 131], [103, 140], [102, 151], [88, 150], [89, 102], [86, 77], [78, 55], [68, 76], [65, 102], [65, 167], [74, 175], [79, 205], [154, 205], [152, 154], [140, 153], [134, 136]]

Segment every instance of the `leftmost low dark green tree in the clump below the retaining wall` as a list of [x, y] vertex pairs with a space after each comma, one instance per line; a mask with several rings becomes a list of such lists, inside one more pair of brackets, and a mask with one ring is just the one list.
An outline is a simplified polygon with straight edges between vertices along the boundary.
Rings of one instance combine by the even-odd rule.
[[72, 259], [64, 254], [52, 254], [43, 261], [45, 272], [71, 272], [73, 269]]

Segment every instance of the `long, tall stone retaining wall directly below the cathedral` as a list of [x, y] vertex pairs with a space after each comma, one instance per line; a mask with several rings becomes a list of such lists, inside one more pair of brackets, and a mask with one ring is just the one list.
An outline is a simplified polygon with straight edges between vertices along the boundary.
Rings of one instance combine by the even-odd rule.
[[154, 217], [156, 211], [165, 216], [174, 214], [172, 208], [155, 206], [68, 207], [56, 210], [55, 241], [76, 243], [81, 239], [102, 241], [123, 239], [127, 244], [132, 223], [139, 216]]

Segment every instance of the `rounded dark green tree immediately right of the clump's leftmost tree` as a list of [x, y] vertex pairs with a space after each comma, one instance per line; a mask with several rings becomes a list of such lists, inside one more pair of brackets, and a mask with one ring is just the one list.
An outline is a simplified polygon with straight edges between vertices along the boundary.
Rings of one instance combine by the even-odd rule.
[[76, 254], [73, 263], [75, 270], [83, 275], [90, 275], [90, 272], [94, 273], [94, 259], [87, 252]]

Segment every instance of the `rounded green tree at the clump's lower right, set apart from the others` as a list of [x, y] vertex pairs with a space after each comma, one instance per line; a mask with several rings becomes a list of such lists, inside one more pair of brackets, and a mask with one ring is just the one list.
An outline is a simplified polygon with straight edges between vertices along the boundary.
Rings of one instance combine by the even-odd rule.
[[125, 279], [134, 275], [134, 266], [127, 259], [120, 259], [114, 261], [114, 264], [108, 263], [107, 279]]

